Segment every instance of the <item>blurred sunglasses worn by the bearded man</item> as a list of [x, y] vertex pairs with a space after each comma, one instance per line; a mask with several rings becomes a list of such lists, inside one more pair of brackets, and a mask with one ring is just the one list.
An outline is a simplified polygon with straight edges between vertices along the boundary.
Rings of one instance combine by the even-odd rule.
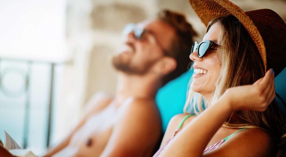
[[134, 32], [134, 38], [137, 40], [145, 39], [148, 34], [152, 35], [152, 37], [155, 39], [155, 42], [160, 47], [160, 49], [162, 49], [164, 54], [165, 55], [169, 54], [168, 51], [164, 49], [163, 45], [158, 41], [158, 39], [153, 35], [152, 32], [150, 32], [146, 28], [136, 27], [136, 24], [134, 24], [134, 23], [128, 23], [127, 25], [125, 25], [125, 27], [122, 31], [122, 35], [127, 35], [127, 34], [131, 33], [132, 31]]

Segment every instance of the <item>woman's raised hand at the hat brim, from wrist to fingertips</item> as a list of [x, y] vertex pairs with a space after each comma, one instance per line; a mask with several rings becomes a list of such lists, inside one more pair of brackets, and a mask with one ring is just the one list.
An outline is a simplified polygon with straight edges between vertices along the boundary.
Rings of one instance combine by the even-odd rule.
[[222, 98], [229, 100], [233, 111], [264, 111], [275, 98], [274, 72], [269, 69], [264, 77], [254, 84], [227, 89]]

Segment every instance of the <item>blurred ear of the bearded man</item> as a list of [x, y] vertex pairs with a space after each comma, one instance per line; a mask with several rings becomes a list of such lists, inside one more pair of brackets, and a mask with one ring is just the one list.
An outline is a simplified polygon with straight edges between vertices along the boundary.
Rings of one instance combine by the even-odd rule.
[[177, 67], [177, 62], [172, 57], [163, 57], [153, 67], [156, 74], [167, 75], [174, 71]]

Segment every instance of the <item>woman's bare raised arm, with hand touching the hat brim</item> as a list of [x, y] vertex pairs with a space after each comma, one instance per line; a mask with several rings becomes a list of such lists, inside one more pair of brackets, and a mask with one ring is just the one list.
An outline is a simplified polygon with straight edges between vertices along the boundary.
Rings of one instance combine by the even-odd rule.
[[198, 115], [174, 137], [160, 156], [202, 156], [206, 145], [223, 122], [237, 110], [264, 111], [275, 98], [274, 73], [254, 84], [229, 88], [219, 100]]

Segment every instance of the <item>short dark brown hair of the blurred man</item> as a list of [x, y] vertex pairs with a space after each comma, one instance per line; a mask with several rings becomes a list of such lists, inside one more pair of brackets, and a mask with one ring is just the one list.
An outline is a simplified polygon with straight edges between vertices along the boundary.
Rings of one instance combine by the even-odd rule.
[[193, 44], [192, 37], [196, 36], [197, 33], [193, 30], [192, 25], [186, 21], [185, 16], [180, 13], [162, 10], [157, 14], [156, 18], [168, 23], [176, 31], [176, 36], [169, 47], [168, 55], [176, 60], [177, 67], [170, 74], [163, 77], [162, 85], [165, 85], [187, 71], [191, 62], [189, 55]]

